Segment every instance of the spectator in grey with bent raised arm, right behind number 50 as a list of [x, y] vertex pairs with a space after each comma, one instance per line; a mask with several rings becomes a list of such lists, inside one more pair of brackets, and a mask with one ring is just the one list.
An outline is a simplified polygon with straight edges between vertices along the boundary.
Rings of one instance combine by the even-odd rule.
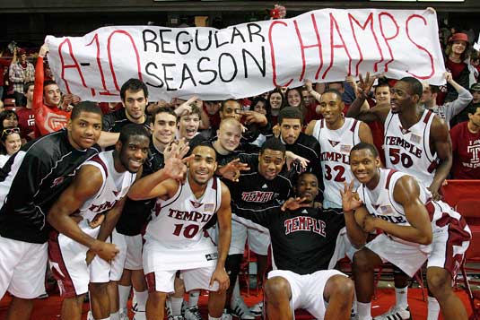
[[428, 108], [437, 114], [437, 116], [441, 117], [449, 126], [452, 118], [468, 106], [473, 96], [467, 89], [453, 80], [451, 73], [447, 72], [443, 74], [443, 76], [445, 80], [447, 80], [447, 83], [458, 92], [458, 98], [451, 102], [445, 102], [442, 106], [437, 106], [437, 94], [440, 92], [439, 87], [423, 84], [423, 94], [420, 103], [423, 105], [423, 108]]

